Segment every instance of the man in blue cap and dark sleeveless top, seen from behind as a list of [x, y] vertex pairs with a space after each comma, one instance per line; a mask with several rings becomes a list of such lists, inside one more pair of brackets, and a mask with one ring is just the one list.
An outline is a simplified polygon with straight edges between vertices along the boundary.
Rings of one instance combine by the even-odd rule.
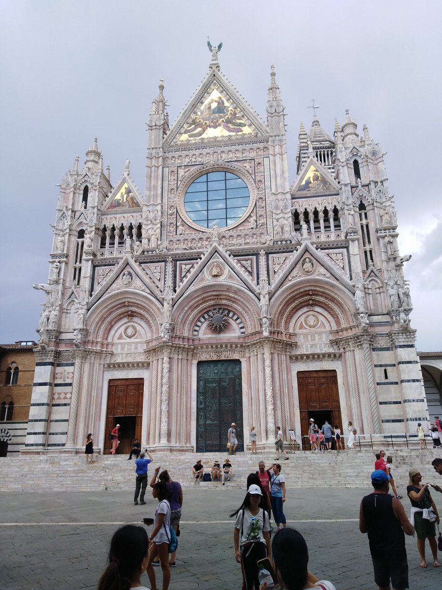
[[363, 497], [359, 509], [359, 530], [368, 533], [375, 582], [379, 590], [408, 588], [408, 562], [405, 535], [414, 527], [405, 514], [402, 503], [388, 493], [389, 480], [385, 471], [373, 471], [373, 493]]

